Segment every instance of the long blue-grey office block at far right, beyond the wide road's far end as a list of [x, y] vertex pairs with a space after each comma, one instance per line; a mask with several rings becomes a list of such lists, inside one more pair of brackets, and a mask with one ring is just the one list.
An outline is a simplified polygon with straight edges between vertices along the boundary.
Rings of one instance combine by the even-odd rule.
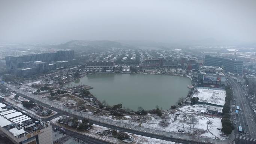
[[222, 67], [232, 74], [243, 75], [243, 61], [205, 55], [204, 65]]

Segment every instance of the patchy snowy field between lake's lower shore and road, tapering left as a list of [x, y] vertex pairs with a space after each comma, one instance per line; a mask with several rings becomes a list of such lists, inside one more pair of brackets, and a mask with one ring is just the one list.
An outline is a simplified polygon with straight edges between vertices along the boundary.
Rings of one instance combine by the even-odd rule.
[[[222, 135], [222, 132], [217, 129], [222, 128], [220, 117], [200, 114], [201, 110], [207, 110], [207, 106], [208, 105], [202, 104], [183, 105], [176, 111], [164, 113], [162, 117], [158, 117], [155, 114], [148, 114], [146, 116], [124, 116], [122, 118], [111, 115], [99, 117], [159, 131], [178, 133], [178, 130], [183, 130], [185, 131], [184, 133], [190, 135], [226, 139], [227, 137]], [[192, 117], [195, 118], [194, 124], [191, 123]], [[137, 120], [138, 118], [140, 120]], [[208, 121], [212, 123], [208, 125]], [[207, 130], [207, 125], [210, 132]]]

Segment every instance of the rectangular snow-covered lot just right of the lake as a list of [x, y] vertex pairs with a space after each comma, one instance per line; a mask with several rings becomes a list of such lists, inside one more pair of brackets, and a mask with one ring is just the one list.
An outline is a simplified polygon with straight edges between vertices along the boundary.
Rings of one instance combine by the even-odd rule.
[[193, 94], [193, 97], [198, 97], [200, 102], [208, 102], [211, 104], [224, 105], [226, 91], [216, 89], [197, 88], [198, 92]]

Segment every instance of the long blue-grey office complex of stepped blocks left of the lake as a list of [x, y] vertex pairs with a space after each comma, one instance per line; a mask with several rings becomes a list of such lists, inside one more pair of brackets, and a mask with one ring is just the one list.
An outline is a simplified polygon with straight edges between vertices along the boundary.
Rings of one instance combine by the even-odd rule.
[[74, 50], [63, 50], [57, 51], [56, 53], [6, 56], [5, 59], [6, 69], [8, 71], [15, 71], [15, 74], [19, 76], [28, 76], [28, 74], [31, 73], [34, 74], [34, 69], [31, 68], [36, 68], [37, 72], [45, 72], [78, 64], [78, 61], [74, 59]]

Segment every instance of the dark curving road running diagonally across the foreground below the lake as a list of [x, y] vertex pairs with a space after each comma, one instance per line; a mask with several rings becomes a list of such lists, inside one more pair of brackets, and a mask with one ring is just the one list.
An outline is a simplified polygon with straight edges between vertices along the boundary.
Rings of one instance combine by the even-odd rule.
[[[46, 119], [43, 119], [44, 121], [50, 121], [51, 119], [54, 119], [54, 118], [56, 118], [58, 116], [61, 116], [61, 115], [68, 115], [68, 116], [71, 116], [71, 117], [78, 117], [79, 119], [83, 119], [83, 117], [79, 117], [76, 114], [68, 113], [66, 111], [60, 110], [60, 109], [55, 108], [55, 107], [49, 107], [48, 104], [45, 104], [45, 103], [40, 102], [40, 101], [38, 101], [36, 99], [30, 98], [29, 96], [26, 96], [26, 95], [21, 94], [19, 92], [17, 92], [17, 94], [19, 94], [19, 96], [25, 97], [28, 100], [32, 100], [32, 101], [42, 105], [43, 107], [47, 107], [47, 108], [49, 108], [51, 110], [54, 110], [54, 111], [58, 112], [57, 115], [54, 115], [52, 117], [48, 117]], [[95, 120], [89, 120], [89, 121], [93, 122], [95, 125], [103, 126], [103, 127], [110, 128], [110, 129], [117, 129], [119, 131], [124, 131], [124, 132], [128, 132], [128, 133], [131, 133], [131, 134], [141, 135], [141, 136], [144, 136], [144, 137], [156, 138], [156, 139], [165, 140], [165, 141], [173, 141], [173, 142], [182, 143], [182, 144], [194, 144], [194, 143], [202, 144], [202, 143], [199, 143], [199, 142], [191, 142], [191, 141], [187, 141], [187, 140], [180, 140], [180, 139], [176, 139], [176, 138], [171, 138], [171, 137], [165, 137], [165, 136], [150, 134], [150, 133], [142, 132], [142, 131], [135, 131], [135, 130], [128, 129], [128, 128], [127, 129], [126, 128], [121, 128], [121, 127], [118, 127], [118, 126], [109, 125], [107, 123], [101, 123], [101, 122], [98, 122], [98, 121], [95, 121]]]

